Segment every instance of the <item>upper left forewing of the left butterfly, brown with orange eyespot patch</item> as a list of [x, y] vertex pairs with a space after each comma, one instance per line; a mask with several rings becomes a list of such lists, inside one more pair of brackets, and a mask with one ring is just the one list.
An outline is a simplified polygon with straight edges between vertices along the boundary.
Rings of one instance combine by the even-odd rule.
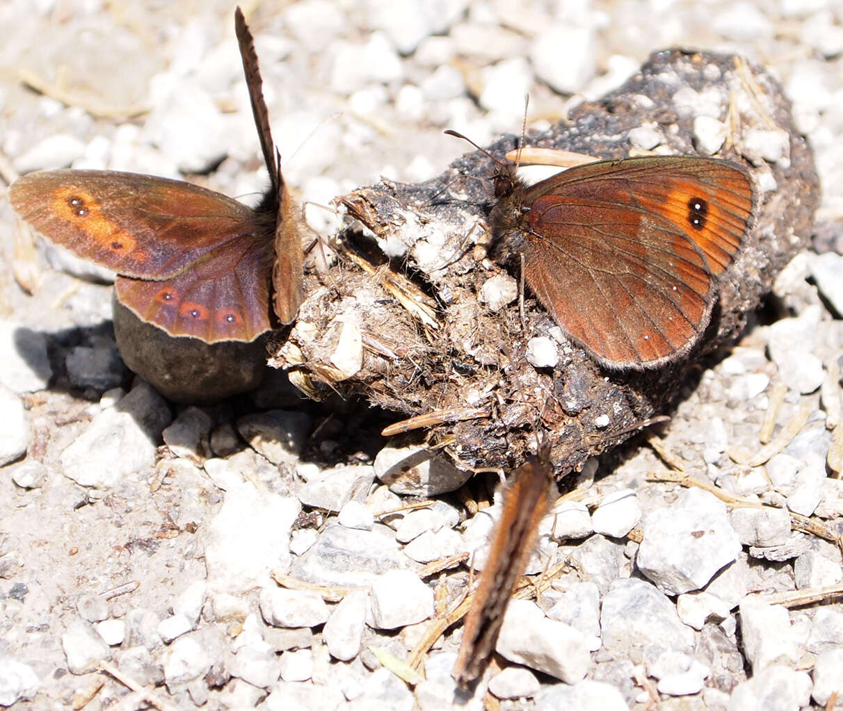
[[139, 278], [165, 279], [228, 240], [254, 241], [252, 211], [180, 180], [103, 170], [24, 175], [14, 210], [51, 242]]

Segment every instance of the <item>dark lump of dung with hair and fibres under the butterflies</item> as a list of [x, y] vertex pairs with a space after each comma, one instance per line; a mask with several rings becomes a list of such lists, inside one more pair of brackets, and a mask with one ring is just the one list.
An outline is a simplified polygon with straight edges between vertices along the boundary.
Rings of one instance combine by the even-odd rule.
[[[517, 272], [475, 247], [486, 232], [496, 166], [472, 152], [427, 183], [384, 181], [341, 198], [353, 222], [340, 254], [368, 249], [379, 270], [341, 259], [328, 278], [312, 279], [271, 364], [289, 369], [312, 396], [324, 388], [363, 393], [396, 420], [420, 417], [429, 444], [448, 446], [469, 465], [522, 461], [541, 427], [554, 442], [558, 472], [581, 466], [663, 412], [700, 358], [741, 331], [806, 243], [818, 178], [781, 88], [738, 56], [659, 52], [604, 99], [525, 137], [529, 146], [599, 158], [640, 153], [642, 142], [656, 153], [694, 154], [710, 137], [696, 119], [712, 113], [724, 129], [717, 155], [750, 168], [761, 204], [746, 249], [722, 281], [711, 326], [687, 360], [657, 372], [607, 372], [564, 338], [529, 291], [522, 319]], [[502, 156], [515, 146], [507, 136], [490, 150]], [[377, 249], [362, 232], [373, 234]]]

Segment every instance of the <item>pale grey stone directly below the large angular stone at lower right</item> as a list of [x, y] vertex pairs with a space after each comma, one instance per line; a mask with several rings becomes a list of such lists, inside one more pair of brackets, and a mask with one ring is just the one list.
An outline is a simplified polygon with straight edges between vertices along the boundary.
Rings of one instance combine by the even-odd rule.
[[600, 628], [605, 653], [624, 656], [635, 649], [647, 665], [665, 651], [691, 654], [694, 632], [676, 607], [644, 580], [616, 580], [603, 596]]

